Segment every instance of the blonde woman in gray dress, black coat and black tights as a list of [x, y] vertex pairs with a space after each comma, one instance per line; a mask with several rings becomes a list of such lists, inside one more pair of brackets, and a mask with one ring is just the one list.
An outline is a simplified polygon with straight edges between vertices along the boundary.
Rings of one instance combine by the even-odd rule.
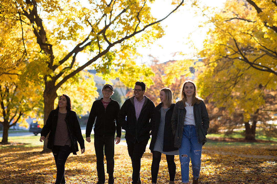
[[152, 122], [152, 139], [149, 149], [153, 154], [151, 165], [152, 184], [157, 183], [161, 154], [166, 155], [169, 172], [169, 184], [174, 184], [176, 165], [174, 156], [179, 155], [178, 148], [174, 147], [174, 136], [171, 129], [171, 116], [175, 103], [172, 102], [172, 92], [163, 88], [160, 92], [161, 103], [154, 109]]

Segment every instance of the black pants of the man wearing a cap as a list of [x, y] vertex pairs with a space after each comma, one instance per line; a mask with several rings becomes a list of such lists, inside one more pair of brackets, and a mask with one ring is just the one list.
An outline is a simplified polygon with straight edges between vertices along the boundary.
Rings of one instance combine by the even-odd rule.
[[105, 182], [104, 152], [107, 161], [107, 173], [114, 173], [114, 136], [94, 135], [96, 169], [98, 181]]

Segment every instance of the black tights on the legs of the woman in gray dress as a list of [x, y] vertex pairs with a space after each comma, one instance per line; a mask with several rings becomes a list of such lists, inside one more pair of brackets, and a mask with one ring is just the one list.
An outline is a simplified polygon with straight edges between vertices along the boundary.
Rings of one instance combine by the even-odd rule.
[[[169, 180], [174, 181], [175, 173], [176, 173], [174, 155], [165, 155], [165, 156], [166, 156], [166, 162], [168, 165]], [[151, 165], [152, 183], [157, 183], [160, 161], [161, 161], [161, 152], [153, 151], [153, 160]]]

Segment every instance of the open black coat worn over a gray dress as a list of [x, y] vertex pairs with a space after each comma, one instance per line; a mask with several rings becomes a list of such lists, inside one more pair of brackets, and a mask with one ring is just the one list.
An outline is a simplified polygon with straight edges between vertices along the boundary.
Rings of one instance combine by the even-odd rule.
[[[171, 104], [170, 109], [165, 114], [165, 129], [163, 133], [163, 151], [175, 151], [178, 148], [174, 147], [174, 135], [171, 129], [171, 116], [175, 103]], [[153, 122], [152, 122], [152, 139], [150, 142], [149, 149], [153, 152], [155, 142], [157, 140], [158, 129], [160, 126], [161, 119], [161, 103], [154, 109]]]

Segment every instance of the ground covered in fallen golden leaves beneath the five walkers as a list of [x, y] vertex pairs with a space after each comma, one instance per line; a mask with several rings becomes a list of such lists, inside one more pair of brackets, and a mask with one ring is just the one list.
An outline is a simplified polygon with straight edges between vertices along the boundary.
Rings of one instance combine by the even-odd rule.
[[[93, 142], [85, 143], [86, 152], [69, 156], [66, 162], [66, 182], [87, 184], [97, 182], [96, 156]], [[56, 167], [52, 153], [41, 153], [41, 146], [0, 145], [1, 184], [55, 183]], [[141, 181], [151, 183], [152, 154], [147, 148], [141, 161]], [[175, 183], [181, 183], [180, 164]], [[106, 166], [105, 166], [106, 167]], [[132, 164], [125, 142], [115, 146], [115, 184], [131, 183]], [[107, 174], [106, 174], [107, 178]], [[168, 183], [165, 156], [162, 156], [158, 184]], [[192, 183], [192, 180], [190, 180]], [[277, 144], [209, 141], [203, 146], [201, 184], [256, 184], [277, 183]]]

